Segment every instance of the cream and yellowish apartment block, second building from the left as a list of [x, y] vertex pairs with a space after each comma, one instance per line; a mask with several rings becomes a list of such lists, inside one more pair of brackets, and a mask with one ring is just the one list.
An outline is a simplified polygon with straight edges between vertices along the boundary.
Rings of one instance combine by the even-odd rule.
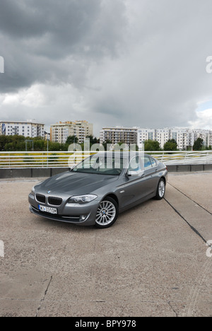
[[78, 138], [78, 144], [85, 141], [87, 136], [93, 136], [93, 124], [87, 121], [59, 122], [50, 127], [50, 140], [65, 144], [70, 136]]

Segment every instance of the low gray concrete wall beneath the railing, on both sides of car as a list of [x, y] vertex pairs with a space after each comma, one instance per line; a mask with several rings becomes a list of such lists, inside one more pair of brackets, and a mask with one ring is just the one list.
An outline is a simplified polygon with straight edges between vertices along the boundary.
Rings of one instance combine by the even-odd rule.
[[[212, 164], [167, 165], [169, 173], [212, 171]], [[0, 178], [45, 178], [64, 173], [69, 168], [0, 169]]]

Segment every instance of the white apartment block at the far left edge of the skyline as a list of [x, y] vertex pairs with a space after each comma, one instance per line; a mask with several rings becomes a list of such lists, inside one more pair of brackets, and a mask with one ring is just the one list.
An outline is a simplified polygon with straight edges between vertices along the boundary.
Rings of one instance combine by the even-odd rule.
[[0, 134], [14, 136], [18, 134], [23, 137], [45, 137], [45, 124], [34, 120], [23, 121], [0, 121]]

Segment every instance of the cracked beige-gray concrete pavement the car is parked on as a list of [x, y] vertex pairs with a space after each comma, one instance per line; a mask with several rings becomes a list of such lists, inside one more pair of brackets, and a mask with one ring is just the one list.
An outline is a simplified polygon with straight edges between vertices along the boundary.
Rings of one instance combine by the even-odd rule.
[[1, 316], [212, 316], [212, 173], [170, 174], [105, 230], [30, 214], [35, 182], [0, 181]]

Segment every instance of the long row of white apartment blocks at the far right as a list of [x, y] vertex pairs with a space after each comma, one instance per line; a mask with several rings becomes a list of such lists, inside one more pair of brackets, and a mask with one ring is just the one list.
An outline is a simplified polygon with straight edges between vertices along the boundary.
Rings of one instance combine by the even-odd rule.
[[192, 147], [194, 141], [201, 138], [206, 147], [212, 145], [212, 131], [188, 128], [165, 128], [165, 129], [138, 129], [138, 146], [148, 139], [156, 140], [160, 143], [161, 149], [169, 139], [175, 139], [177, 149], [185, 150]]

